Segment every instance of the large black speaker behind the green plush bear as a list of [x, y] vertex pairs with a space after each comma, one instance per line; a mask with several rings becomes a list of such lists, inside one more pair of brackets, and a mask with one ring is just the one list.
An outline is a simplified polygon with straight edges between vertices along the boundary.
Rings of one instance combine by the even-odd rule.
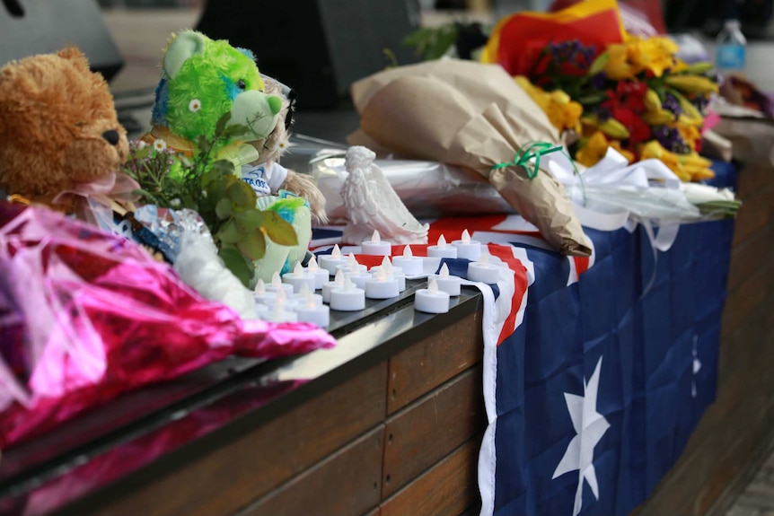
[[298, 94], [298, 107], [332, 108], [349, 85], [391, 61], [416, 61], [400, 45], [418, 28], [417, 0], [210, 0], [197, 30], [250, 48], [261, 73]]

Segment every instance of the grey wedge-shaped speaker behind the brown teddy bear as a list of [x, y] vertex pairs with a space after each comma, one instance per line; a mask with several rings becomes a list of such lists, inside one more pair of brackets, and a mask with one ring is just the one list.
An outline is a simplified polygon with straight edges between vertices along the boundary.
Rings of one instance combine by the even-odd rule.
[[94, 0], [0, 0], [0, 66], [66, 45], [109, 81], [124, 66]]

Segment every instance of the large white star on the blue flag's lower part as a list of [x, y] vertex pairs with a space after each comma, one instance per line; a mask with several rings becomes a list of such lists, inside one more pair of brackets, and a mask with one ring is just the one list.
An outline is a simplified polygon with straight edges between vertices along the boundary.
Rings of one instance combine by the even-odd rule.
[[588, 383], [584, 379], [584, 395], [578, 396], [565, 392], [567, 412], [573, 421], [576, 436], [567, 445], [564, 457], [554, 471], [551, 479], [578, 471], [578, 486], [576, 490], [573, 516], [580, 513], [583, 505], [584, 480], [591, 487], [594, 497], [599, 500], [599, 485], [596, 481], [594, 470], [594, 446], [600, 442], [602, 435], [610, 428], [610, 424], [604, 416], [596, 411], [597, 391], [599, 390], [599, 372], [602, 369], [602, 357], [596, 363], [594, 373]]

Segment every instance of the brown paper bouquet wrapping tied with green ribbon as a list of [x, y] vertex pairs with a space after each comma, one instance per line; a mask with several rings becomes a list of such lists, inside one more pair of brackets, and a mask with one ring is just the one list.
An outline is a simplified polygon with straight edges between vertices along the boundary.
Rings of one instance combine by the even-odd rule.
[[523, 144], [559, 144], [559, 132], [500, 66], [439, 60], [400, 66], [352, 85], [361, 131], [350, 144], [374, 144], [407, 158], [457, 165], [483, 176], [563, 254], [591, 246], [564, 188], [550, 173], [533, 179], [512, 162]]

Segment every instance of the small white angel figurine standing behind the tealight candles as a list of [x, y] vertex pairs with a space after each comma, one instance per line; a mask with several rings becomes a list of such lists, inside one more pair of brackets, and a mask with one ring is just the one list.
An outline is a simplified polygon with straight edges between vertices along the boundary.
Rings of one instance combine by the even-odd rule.
[[368, 241], [376, 230], [384, 241], [394, 244], [427, 243], [429, 226], [419, 223], [409, 212], [384, 172], [374, 164], [375, 157], [366, 147], [347, 150], [347, 179], [341, 187], [348, 221], [343, 240]]

